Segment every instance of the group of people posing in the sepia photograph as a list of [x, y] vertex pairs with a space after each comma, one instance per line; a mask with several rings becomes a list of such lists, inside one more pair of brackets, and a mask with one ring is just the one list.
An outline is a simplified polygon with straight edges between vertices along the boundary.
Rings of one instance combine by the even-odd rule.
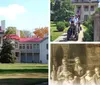
[[94, 74], [91, 70], [82, 66], [79, 57], [76, 57], [73, 71], [68, 70], [66, 59], [62, 59], [62, 65], [57, 69], [53, 65], [51, 72], [50, 85], [100, 85], [100, 68], [94, 68]]

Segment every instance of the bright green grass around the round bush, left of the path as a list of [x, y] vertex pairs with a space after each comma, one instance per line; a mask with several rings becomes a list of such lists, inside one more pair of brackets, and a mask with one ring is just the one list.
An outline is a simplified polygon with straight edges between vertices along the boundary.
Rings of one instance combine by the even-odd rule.
[[60, 35], [62, 35], [64, 32], [66, 32], [68, 30], [68, 28], [65, 28], [64, 31], [62, 32], [58, 32], [57, 29], [56, 29], [56, 24], [54, 22], [51, 22], [51, 25], [50, 25], [50, 37], [51, 37], [51, 41], [54, 41], [56, 38], [58, 38]]

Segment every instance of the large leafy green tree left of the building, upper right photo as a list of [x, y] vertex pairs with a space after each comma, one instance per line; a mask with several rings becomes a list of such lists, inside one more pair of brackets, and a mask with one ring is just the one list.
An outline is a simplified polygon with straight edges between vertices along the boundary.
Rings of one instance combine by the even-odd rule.
[[63, 21], [74, 14], [74, 6], [71, 4], [71, 0], [56, 0], [51, 1], [51, 20]]

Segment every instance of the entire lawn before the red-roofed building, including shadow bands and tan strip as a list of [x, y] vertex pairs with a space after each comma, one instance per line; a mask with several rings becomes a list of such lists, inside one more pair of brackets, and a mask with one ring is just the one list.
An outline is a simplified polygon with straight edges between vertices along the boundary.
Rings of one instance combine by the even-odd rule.
[[47, 64], [0, 64], [0, 85], [36, 85], [48, 82]]

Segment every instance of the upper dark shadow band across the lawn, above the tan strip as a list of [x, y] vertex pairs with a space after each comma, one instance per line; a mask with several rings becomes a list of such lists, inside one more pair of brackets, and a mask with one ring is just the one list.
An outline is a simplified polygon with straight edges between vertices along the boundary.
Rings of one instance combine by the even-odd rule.
[[0, 69], [0, 74], [3, 73], [48, 73], [48, 69]]

